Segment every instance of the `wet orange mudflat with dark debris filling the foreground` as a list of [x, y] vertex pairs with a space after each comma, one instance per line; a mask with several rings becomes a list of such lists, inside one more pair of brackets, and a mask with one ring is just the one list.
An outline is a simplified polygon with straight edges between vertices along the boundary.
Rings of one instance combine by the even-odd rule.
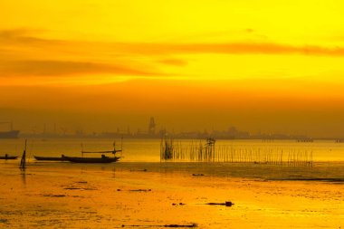
[[[0, 165], [1, 228], [342, 228], [342, 182], [215, 177], [149, 164]], [[196, 175], [196, 176], [195, 176]], [[198, 176], [197, 176], [198, 175]], [[204, 175], [204, 176], [203, 176]], [[206, 205], [225, 203], [232, 206]]]

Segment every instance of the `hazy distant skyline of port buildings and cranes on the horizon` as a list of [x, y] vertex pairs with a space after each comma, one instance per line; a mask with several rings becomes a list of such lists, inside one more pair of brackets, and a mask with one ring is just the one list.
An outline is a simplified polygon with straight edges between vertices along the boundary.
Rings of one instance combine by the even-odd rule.
[[[2, 122], [1, 124], [9, 125], [10, 129], [14, 130], [13, 122]], [[163, 125], [157, 126], [154, 117], [148, 119], [147, 129], [110, 129], [99, 131], [87, 131], [82, 128], [68, 129], [67, 127], [60, 127], [56, 123], [53, 127], [49, 127], [46, 123], [43, 124], [43, 129], [38, 129], [33, 126], [31, 131], [21, 131], [20, 137], [33, 137], [33, 138], [218, 138], [218, 139], [309, 139], [311, 137], [303, 134], [291, 134], [285, 132], [262, 132], [256, 133], [246, 131], [244, 129], [237, 129], [230, 126], [227, 129], [192, 129], [192, 130], [175, 130], [164, 128]], [[53, 128], [53, 129], [52, 129]], [[19, 130], [19, 129], [18, 129]], [[0, 129], [6, 131], [5, 129]]]

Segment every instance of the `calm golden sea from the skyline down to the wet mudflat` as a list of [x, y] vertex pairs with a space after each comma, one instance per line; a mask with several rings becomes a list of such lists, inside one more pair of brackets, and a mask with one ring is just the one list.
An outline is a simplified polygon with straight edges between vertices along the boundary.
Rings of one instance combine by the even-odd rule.
[[[110, 150], [113, 148], [113, 139], [28, 139], [27, 157], [29, 167], [63, 168], [63, 169], [95, 169], [95, 170], [138, 170], [158, 173], [183, 172], [215, 177], [246, 177], [269, 180], [310, 180], [344, 182], [344, 143], [334, 141], [270, 141], [261, 140], [218, 140], [216, 147], [230, 148], [243, 152], [245, 150], [274, 150], [282, 151], [283, 157], [287, 152], [311, 152], [313, 163], [311, 165], [270, 165], [254, 163], [206, 163], [206, 162], [160, 162], [159, 139], [125, 139], [117, 141], [116, 148], [123, 148], [118, 163], [114, 164], [71, 164], [69, 162], [44, 162], [36, 161], [33, 156], [81, 157], [81, 148], [85, 151]], [[178, 144], [189, 146], [191, 140], [181, 140]], [[194, 141], [195, 144], [195, 141]], [[0, 155], [14, 155], [21, 157], [24, 148], [24, 139], [1, 139]], [[94, 157], [94, 156], [89, 156]], [[100, 157], [97, 155], [96, 157]], [[0, 160], [1, 167], [17, 167], [17, 160]], [[12, 164], [12, 166], [11, 166]]]

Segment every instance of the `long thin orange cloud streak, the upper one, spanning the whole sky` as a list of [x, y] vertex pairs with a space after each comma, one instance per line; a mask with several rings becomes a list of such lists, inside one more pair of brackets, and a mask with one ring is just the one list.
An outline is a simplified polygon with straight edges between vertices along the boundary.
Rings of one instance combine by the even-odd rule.
[[[265, 53], [265, 54], [303, 54], [303, 55], [344, 55], [344, 47], [325, 47], [320, 45], [290, 45], [285, 43], [100, 43], [83, 41], [63, 41], [42, 39], [31, 35], [25, 29], [0, 31], [2, 42], [16, 43], [18, 45], [62, 45], [65, 49], [74, 46], [75, 49], [88, 48], [90, 51], [104, 50], [112, 53], [138, 53], [138, 54], [172, 54], [172, 53]], [[75, 47], [76, 46], [76, 47]], [[0, 46], [1, 47], [1, 46]], [[36, 46], [39, 48], [39, 46]], [[169, 59], [169, 58], [167, 58]]]

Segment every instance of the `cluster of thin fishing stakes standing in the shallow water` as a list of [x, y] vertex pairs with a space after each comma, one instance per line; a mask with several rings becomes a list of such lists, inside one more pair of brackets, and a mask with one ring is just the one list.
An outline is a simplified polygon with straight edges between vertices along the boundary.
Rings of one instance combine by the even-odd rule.
[[181, 141], [166, 137], [161, 139], [160, 160], [312, 166], [313, 153], [311, 150], [279, 149], [269, 146], [238, 148], [219, 145], [215, 147], [214, 138], [193, 140], [182, 144]]

